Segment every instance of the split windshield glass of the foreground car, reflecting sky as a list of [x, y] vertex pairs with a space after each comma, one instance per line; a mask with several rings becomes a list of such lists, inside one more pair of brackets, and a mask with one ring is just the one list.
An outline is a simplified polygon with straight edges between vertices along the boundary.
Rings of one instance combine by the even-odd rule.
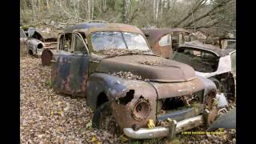
[[109, 50], [150, 51], [145, 38], [141, 34], [128, 32], [94, 32], [90, 34], [90, 40], [95, 52]]

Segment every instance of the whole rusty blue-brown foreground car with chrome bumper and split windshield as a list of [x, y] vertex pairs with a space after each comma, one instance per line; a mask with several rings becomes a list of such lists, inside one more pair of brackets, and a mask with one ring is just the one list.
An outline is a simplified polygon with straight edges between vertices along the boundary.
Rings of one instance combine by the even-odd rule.
[[58, 34], [54, 90], [86, 96], [94, 128], [128, 138], [174, 138], [216, 117], [214, 82], [191, 66], [153, 54], [141, 30], [79, 23]]

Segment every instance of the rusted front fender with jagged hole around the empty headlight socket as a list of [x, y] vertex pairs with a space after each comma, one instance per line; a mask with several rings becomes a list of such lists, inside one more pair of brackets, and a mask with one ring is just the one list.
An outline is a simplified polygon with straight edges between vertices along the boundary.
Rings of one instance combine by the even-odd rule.
[[[122, 128], [132, 127], [134, 124], [145, 127], [149, 119], [155, 120], [157, 96], [154, 87], [148, 82], [118, 78], [110, 74], [94, 73], [88, 78], [87, 89], [87, 104], [92, 107], [93, 110], [96, 109], [96, 103], [99, 99], [97, 95], [104, 92], [108, 96], [114, 117], [118, 125]], [[134, 90], [134, 94], [132, 94], [133, 98], [130, 99], [130, 101], [120, 102], [120, 98], [125, 98], [127, 92], [130, 90]], [[138, 101], [142, 100], [148, 102], [150, 111], [147, 118], [138, 121], [134, 118], [134, 106]], [[140, 114], [141, 113], [138, 111], [136, 113], [137, 117]], [[141, 116], [143, 115], [144, 113], [142, 113]]]

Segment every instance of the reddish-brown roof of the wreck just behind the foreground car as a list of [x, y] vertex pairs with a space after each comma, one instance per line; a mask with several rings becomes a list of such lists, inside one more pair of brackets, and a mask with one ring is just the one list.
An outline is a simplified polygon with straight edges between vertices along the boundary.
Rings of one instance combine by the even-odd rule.
[[150, 46], [154, 46], [154, 43], [158, 42], [163, 35], [170, 34], [171, 32], [190, 33], [190, 31], [182, 28], [142, 29], [142, 32], [146, 35], [146, 38], [148, 38]]

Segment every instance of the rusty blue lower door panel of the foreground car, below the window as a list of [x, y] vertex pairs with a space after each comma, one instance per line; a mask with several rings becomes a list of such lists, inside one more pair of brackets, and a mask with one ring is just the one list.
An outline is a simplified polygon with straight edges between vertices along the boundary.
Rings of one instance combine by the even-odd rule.
[[85, 96], [89, 56], [61, 55], [55, 55], [56, 62], [52, 65], [51, 78], [54, 90]]

